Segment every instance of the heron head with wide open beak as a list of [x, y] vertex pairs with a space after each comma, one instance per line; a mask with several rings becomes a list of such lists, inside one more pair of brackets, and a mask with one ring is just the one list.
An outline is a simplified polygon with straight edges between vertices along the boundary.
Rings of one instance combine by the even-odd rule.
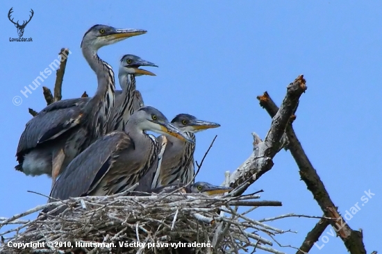
[[147, 60], [143, 60], [139, 56], [124, 55], [121, 58], [118, 75], [134, 74], [135, 76], [141, 76], [141, 75], [156, 76], [156, 74], [153, 74], [151, 71], [147, 71], [145, 69], [139, 69], [139, 67], [141, 66], [158, 67], [158, 65], [155, 65], [152, 62], [149, 62]]

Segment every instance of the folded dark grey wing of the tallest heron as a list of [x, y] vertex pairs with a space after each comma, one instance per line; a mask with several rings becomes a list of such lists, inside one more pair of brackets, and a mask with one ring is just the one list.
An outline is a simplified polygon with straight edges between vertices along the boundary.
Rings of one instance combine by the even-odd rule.
[[71, 99], [57, 101], [40, 111], [25, 126], [17, 146], [17, 159], [22, 159], [29, 149], [35, 148], [42, 142], [56, 139], [84, 121], [82, 110], [84, 105], [85, 100]]

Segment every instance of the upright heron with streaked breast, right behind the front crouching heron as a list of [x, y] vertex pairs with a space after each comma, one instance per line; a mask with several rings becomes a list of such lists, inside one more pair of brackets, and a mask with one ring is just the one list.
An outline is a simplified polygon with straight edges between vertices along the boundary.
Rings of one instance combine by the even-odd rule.
[[[210, 121], [199, 120], [188, 114], [177, 115], [172, 120], [172, 124], [182, 130], [185, 136], [194, 142], [196, 141], [194, 133], [220, 126]], [[163, 156], [160, 158], [160, 167], [155, 172], [150, 172], [152, 179], [151, 189], [176, 183], [184, 185], [190, 183], [194, 178], [195, 143], [186, 143], [168, 135], [161, 135], [158, 137], [158, 143], [162, 144], [163, 142], [166, 144]], [[144, 181], [147, 180], [142, 179], [142, 182]], [[142, 183], [142, 185], [144, 184]]]

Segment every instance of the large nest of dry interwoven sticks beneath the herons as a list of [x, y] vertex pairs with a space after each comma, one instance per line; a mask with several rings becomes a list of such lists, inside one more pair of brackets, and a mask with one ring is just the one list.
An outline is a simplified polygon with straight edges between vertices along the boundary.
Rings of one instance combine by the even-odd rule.
[[[272, 240], [286, 231], [249, 219], [248, 208], [238, 212], [240, 206], [254, 210], [264, 202], [277, 205], [256, 198], [260, 196], [122, 193], [56, 201], [1, 218], [0, 228], [17, 228], [1, 232], [0, 253], [281, 253], [272, 248]], [[22, 220], [46, 208], [51, 211], [33, 221]], [[3, 237], [10, 233], [15, 235]], [[34, 245], [17, 248], [15, 243]]]

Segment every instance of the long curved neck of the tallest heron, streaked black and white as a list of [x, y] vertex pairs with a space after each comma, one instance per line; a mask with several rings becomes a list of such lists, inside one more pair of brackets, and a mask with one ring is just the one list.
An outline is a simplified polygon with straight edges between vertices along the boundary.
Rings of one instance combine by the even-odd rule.
[[92, 70], [97, 74], [97, 92], [85, 105], [84, 112], [89, 112], [88, 127], [92, 141], [106, 134], [107, 123], [110, 119], [111, 108], [115, 99], [115, 80], [113, 69], [97, 55], [97, 49], [83, 47], [83, 56]]

